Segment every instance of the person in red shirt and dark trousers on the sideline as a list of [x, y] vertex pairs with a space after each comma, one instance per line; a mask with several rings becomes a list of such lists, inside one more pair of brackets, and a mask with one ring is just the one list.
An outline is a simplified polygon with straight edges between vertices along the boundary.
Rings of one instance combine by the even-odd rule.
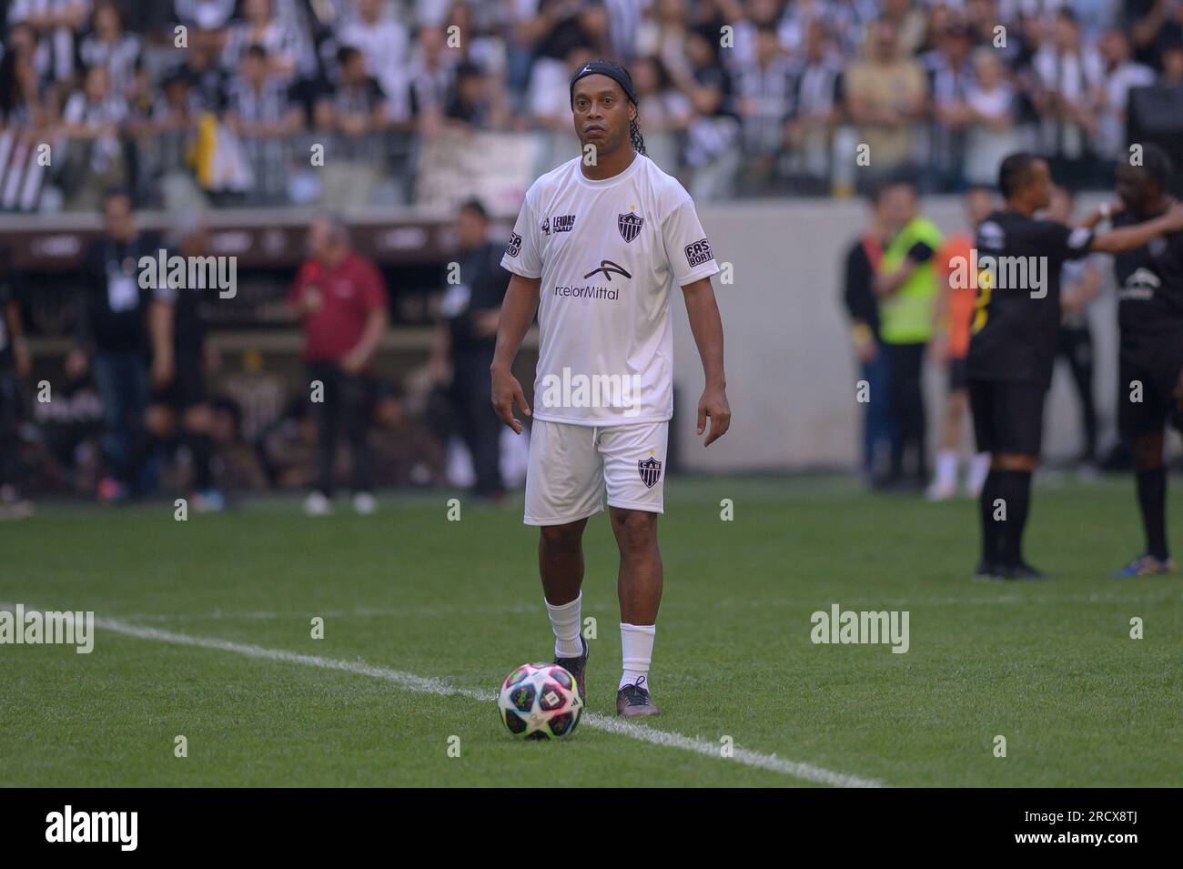
[[345, 223], [319, 215], [308, 233], [310, 257], [287, 301], [304, 329], [312, 417], [317, 430], [317, 487], [304, 501], [310, 515], [332, 510], [338, 424], [353, 454], [354, 510], [376, 507], [367, 446], [370, 365], [387, 328], [387, 292], [373, 262], [349, 245]]

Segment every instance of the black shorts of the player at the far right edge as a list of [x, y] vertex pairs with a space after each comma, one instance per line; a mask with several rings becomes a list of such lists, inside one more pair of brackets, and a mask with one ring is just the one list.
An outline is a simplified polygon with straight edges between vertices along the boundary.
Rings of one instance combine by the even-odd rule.
[[[1170, 422], [1183, 432], [1183, 411], [1175, 389], [1183, 372], [1183, 335], [1121, 337], [1118, 364], [1117, 422], [1126, 439], [1162, 432]], [[1140, 385], [1140, 396], [1138, 387]], [[1140, 397], [1140, 401], [1134, 398]]]

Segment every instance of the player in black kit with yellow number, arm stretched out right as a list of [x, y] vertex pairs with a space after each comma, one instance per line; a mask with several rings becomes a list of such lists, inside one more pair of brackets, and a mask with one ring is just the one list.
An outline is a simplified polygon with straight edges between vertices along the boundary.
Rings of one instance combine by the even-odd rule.
[[1047, 161], [1011, 154], [998, 187], [1006, 207], [977, 229], [977, 299], [968, 370], [978, 449], [990, 453], [982, 488], [982, 559], [976, 579], [1039, 579], [1023, 560], [1032, 473], [1042, 440], [1043, 396], [1059, 346], [1060, 268], [1090, 252], [1119, 253], [1183, 229], [1183, 208], [1138, 226], [1095, 233], [1104, 216], [1068, 227], [1036, 220], [1052, 197]]

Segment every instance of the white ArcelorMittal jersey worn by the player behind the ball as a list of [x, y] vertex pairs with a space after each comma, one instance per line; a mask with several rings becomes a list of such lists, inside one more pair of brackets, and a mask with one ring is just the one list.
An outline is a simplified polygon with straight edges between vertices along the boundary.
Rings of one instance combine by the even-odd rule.
[[534, 416], [580, 426], [673, 416], [670, 288], [719, 271], [680, 183], [638, 154], [590, 181], [580, 157], [526, 192], [502, 265], [542, 278]]

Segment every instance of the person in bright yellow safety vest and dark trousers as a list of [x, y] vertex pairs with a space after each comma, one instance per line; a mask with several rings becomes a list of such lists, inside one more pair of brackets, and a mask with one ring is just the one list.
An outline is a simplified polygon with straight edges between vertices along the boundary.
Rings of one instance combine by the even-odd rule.
[[[887, 484], [923, 489], [929, 462], [920, 375], [925, 348], [932, 337], [932, 310], [937, 300], [935, 257], [942, 238], [936, 225], [918, 214], [913, 183], [888, 182], [883, 197], [896, 229], [884, 249], [874, 283], [879, 298], [879, 332], [890, 370], [886, 398], [891, 408], [892, 448]], [[911, 472], [905, 474], [904, 459], [909, 450], [914, 460]]]

